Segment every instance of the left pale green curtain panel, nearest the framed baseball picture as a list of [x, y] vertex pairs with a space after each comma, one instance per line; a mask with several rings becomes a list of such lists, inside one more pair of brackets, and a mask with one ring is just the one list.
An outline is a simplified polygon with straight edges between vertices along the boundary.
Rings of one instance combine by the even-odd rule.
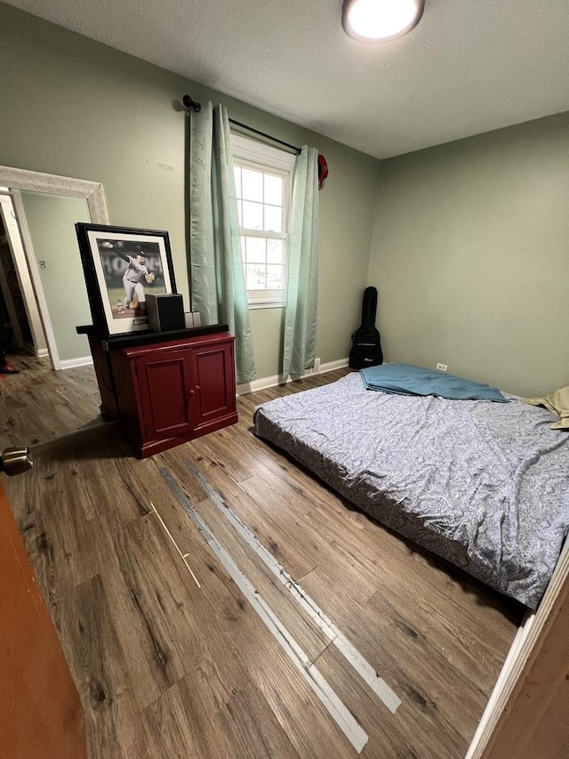
[[255, 379], [227, 109], [208, 101], [189, 116], [189, 268], [202, 324], [235, 335], [237, 383]]

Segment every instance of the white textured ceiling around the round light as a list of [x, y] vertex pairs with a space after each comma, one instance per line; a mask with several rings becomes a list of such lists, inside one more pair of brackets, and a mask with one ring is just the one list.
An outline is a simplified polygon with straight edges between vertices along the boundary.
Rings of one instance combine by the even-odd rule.
[[569, 0], [426, 0], [387, 44], [341, 0], [8, 3], [380, 158], [569, 110]]

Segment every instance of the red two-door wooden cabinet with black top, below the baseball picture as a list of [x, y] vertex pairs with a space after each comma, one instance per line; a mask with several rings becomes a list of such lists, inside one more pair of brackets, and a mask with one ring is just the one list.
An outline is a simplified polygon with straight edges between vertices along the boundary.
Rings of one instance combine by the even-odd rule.
[[234, 338], [228, 327], [89, 337], [101, 414], [118, 418], [140, 456], [237, 421]]

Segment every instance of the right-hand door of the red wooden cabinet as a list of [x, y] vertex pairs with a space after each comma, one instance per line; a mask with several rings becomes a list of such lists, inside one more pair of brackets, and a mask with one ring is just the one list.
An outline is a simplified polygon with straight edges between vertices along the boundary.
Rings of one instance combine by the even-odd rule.
[[192, 347], [192, 419], [198, 434], [236, 422], [233, 338]]

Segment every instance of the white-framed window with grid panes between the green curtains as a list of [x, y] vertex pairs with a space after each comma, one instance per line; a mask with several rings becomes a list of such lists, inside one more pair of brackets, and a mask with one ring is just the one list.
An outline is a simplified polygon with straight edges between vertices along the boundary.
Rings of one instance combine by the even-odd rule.
[[284, 306], [296, 156], [240, 135], [232, 135], [231, 141], [249, 306]]

